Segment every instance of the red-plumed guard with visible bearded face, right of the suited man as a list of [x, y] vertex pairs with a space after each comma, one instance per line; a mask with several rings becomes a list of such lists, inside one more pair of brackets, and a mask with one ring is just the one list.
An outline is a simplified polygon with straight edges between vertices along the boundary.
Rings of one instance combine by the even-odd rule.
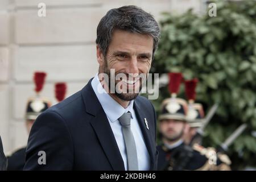
[[185, 116], [187, 113], [187, 101], [177, 98], [182, 75], [170, 73], [168, 85], [171, 98], [163, 101], [159, 115], [159, 131], [162, 137], [162, 145], [158, 146], [159, 170], [184, 170], [193, 156], [191, 147], [183, 142], [183, 134], [186, 128]]

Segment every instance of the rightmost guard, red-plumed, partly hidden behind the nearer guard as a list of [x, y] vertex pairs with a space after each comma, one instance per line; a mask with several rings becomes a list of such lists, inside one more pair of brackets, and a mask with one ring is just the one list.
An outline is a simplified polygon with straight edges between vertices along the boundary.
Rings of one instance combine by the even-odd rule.
[[[205, 148], [201, 146], [204, 133], [204, 131], [202, 131], [201, 129], [203, 128], [203, 125], [209, 122], [205, 121], [205, 119], [209, 120], [213, 116], [217, 108], [213, 109], [215, 111], [209, 111], [209, 114], [211, 116], [208, 115], [209, 117], [205, 118], [203, 105], [195, 102], [197, 82], [197, 78], [185, 81], [185, 94], [188, 99], [188, 112], [186, 115], [186, 120], [188, 122], [189, 129], [186, 133], [184, 133], [184, 141], [185, 143], [189, 144], [189, 146], [191, 146], [193, 150], [196, 150], [201, 154], [208, 155], [209, 158], [210, 155], [212, 155], [212, 162], [218, 162], [217, 166], [213, 166], [214, 169], [230, 170], [229, 165], [231, 164], [231, 161], [228, 155], [224, 154], [223, 152], [217, 152], [217, 150], [213, 147]], [[214, 159], [214, 155], [216, 155], [216, 159]], [[216, 162], [214, 162], [214, 160], [216, 160]]]

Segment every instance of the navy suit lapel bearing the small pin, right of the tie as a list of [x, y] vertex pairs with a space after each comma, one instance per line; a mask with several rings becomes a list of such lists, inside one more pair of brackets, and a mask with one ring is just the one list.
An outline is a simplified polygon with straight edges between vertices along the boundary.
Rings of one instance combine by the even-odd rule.
[[[141, 127], [142, 134], [144, 137], [144, 141], [146, 143], [147, 151], [150, 154], [150, 169], [152, 170], [155, 165], [155, 155], [154, 155], [154, 141], [151, 139], [150, 131], [147, 130], [146, 125], [144, 123], [144, 118], [146, 118], [146, 115], [143, 113], [143, 110], [139, 107], [136, 100], [134, 100], [134, 110], [136, 117], [139, 122], [139, 126]], [[138, 112], [139, 111], [139, 112]]]

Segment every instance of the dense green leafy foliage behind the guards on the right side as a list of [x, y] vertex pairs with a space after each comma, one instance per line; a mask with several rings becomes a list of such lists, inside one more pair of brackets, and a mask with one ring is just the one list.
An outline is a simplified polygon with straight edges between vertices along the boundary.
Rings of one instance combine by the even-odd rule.
[[[187, 13], [163, 14], [162, 34], [152, 72], [182, 72], [185, 79], [199, 78], [197, 101], [205, 110], [218, 102], [207, 126], [205, 146], [218, 146], [242, 123], [247, 130], [229, 148], [233, 168], [256, 166], [256, 2], [216, 2], [217, 17]], [[160, 103], [170, 94], [160, 90]], [[184, 96], [181, 89], [180, 96]], [[240, 155], [238, 155], [240, 154]]]

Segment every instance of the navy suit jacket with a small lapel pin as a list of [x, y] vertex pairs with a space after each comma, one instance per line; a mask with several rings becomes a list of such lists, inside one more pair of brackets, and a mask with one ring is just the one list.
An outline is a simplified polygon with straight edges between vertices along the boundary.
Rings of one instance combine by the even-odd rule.
[[[91, 81], [79, 92], [39, 115], [28, 138], [24, 170], [125, 170], [108, 118]], [[150, 170], [156, 170], [154, 107], [146, 98], [138, 96], [134, 100], [134, 110], [150, 155]], [[46, 152], [46, 164], [38, 163], [39, 151]]]

